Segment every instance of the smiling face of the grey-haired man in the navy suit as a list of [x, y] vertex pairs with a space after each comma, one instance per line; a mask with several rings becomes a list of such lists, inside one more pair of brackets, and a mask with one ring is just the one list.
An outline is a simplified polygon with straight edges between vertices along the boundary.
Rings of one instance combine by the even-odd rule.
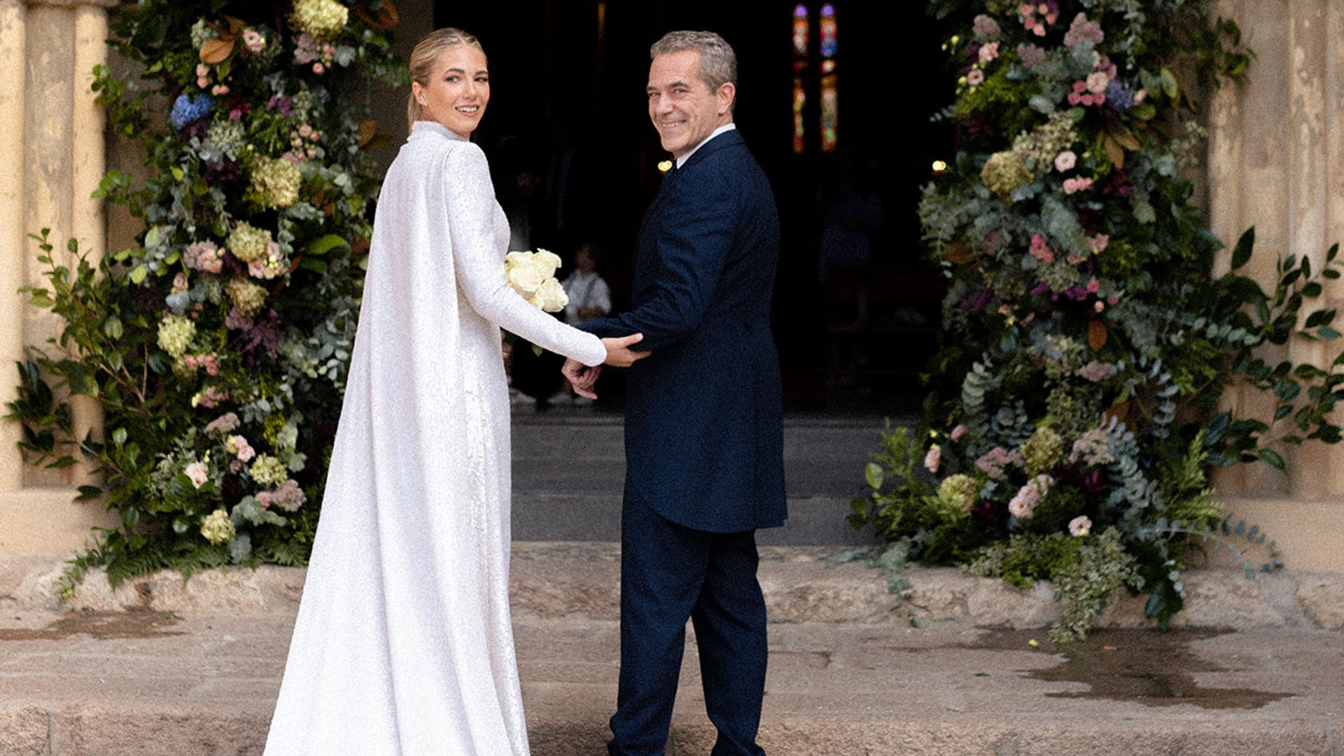
[[663, 139], [663, 149], [681, 157], [714, 129], [732, 120], [734, 87], [710, 89], [700, 78], [700, 54], [667, 52], [649, 66], [649, 120]]

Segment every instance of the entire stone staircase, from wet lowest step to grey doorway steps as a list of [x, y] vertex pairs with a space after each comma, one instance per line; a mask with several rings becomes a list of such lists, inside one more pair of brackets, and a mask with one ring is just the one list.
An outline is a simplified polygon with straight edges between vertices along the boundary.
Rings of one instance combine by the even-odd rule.
[[[878, 426], [786, 429], [792, 518], [761, 538], [767, 753], [1344, 756], [1339, 580], [1192, 573], [1180, 620], [1236, 632], [1152, 632], [1137, 600], [1124, 600], [1102, 617], [1106, 630], [1060, 650], [1036, 643], [1058, 617], [1047, 585], [1021, 592], [913, 568], [902, 599], [862, 562], [829, 566], [867, 542], [843, 518]], [[620, 424], [519, 416], [513, 474], [513, 620], [532, 753], [605, 753], [618, 669]], [[0, 756], [261, 755], [304, 570], [185, 584], [159, 573], [116, 591], [94, 572], [58, 605], [60, 561], [0, 558]], [[691, 632], [669, 756], [710, 752], [703, 710]]]

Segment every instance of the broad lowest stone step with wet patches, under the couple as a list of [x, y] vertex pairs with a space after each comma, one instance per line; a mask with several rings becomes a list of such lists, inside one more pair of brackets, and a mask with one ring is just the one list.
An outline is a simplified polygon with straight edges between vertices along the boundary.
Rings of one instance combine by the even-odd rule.
[[[0, 753], [258, 756], [293, 612], [0, 619]], [[618, 624], [516, 617], [532, 753], [603, 752]], [[1340, 753], [1344, 640], [1320, 631], [1111, 631], [1066, 654], [1030, 634], [775, 624], [771, 756]], [[1137, 681], [1137, 682], [1136, 682]], [[694, 632], [669, 756], [704, 755]]]

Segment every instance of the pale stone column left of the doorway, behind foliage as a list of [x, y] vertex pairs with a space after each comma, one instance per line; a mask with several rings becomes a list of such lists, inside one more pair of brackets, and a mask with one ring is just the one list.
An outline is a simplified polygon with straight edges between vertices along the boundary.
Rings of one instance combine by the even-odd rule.
[[[0, 398], [16, 395], [11, 367], [28, 346], [59, 332], [54, 315], [26, 304], [23, 284], [46, 285], [28, 231], [51, 229], [55, 260], [71, 264], [77, 238], [97, 261], [103, 252], [102, 202], [90, 194], [105, 171], [103, 114], [89, 89], [108, 59], [106, 8], [113, 0], [0, 0], [0, 128], [19, 149], [0, 151]], [[99, 432], [97, 402], [75, 401], [81, 437]], [[27, 465], [22, 429], [0, 422], [0, 552], [60, 552], [83, 543], [90, 525], [113, 521], [98, 504], [75, 504], [82, 468]]]

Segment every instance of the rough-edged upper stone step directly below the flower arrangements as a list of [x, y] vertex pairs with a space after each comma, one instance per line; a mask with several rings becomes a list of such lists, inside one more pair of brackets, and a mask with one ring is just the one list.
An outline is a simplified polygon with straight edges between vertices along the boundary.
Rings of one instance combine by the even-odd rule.
[[[607, 542], [513, 543], [511, 593], [516, 616], [617, 617], [620, 545]], [[761, 588], [777, 624], [890, 623], [906, 626], [1040, 628], [1058, 620], [1048, 582], [1020, 591], [1003, 580], [968, 577], [950, 568], [907, 568], [910, 589], [891, 595], [882, 574], [863, 561], [829, 566], [844, 553], [827, 546], [762, 546]], [[113, 591], [91, 570], [74, 596], [58, 604], [52, 591], [60, 556], [0, 557], [0, 611], [288, 612], [298, 604], [304, 569], [262, 566], [208, 570], [187, 582], [159, 572]], [[1275, 573], [1246, 580], [1238, 569], [1200, 569], [1185, 576], [1185, 609], [1177, 627], [1344, 630], [1344, 576]], [[1142, 597], [1128, 593], [1098, 619], [1099, 627], [1150, 627]]]

